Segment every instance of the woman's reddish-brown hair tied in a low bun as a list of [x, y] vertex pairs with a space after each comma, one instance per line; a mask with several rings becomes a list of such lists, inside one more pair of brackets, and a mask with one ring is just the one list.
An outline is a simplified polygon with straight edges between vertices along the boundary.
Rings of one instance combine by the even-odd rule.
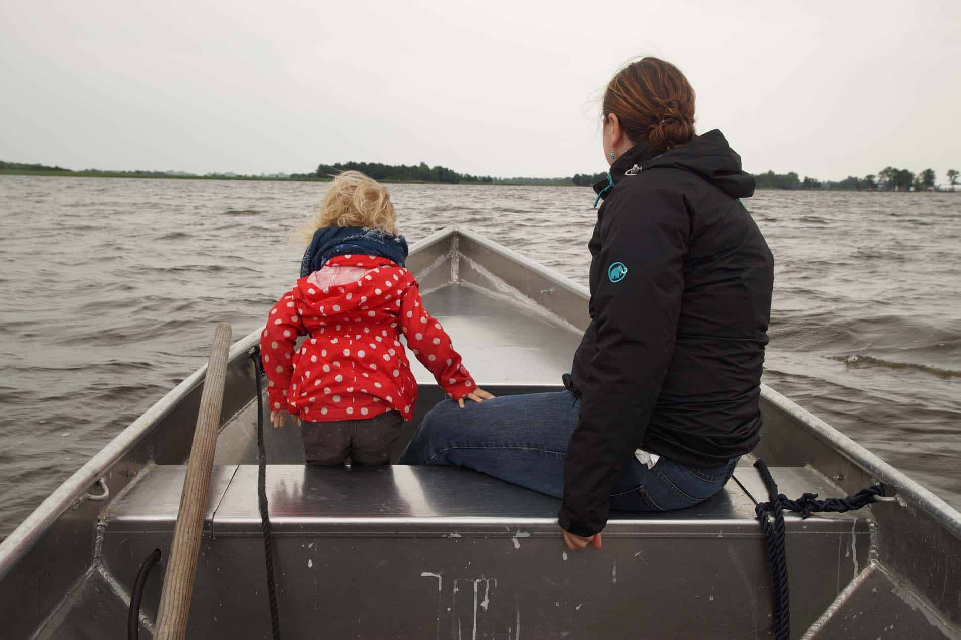
[[694, 137], [694, 89], [678, 67], [647, 57], [630, 62], [604, 91], [604, 122], [611, 113], [632, 142], [647, 140], [655, 152]]

